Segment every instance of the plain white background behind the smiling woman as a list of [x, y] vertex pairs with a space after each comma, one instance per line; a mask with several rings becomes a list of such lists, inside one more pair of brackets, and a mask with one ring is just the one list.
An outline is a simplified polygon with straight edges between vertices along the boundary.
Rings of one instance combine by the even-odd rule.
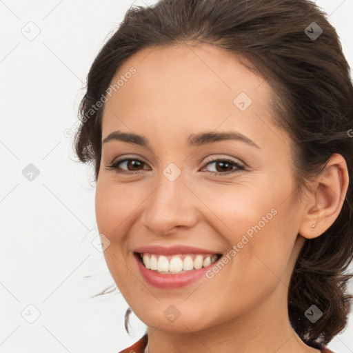
[[[94, 57], [132, 3], [144, 5], [0, 1], [2, 353], [117, 353], [145, 330], [132, 315], [132, 336], [125, 332], [128, 305], [118, 292], [89, 297], [114, 282], [91, 243], [98, 234], [92, 169], [75, 162], [72, 139], [63, 134], [77, 122]], [[353, 0], [316, 3], [330, 14], [353, 66]], [[28, 26], [32, 34], [40, 30], [32, 41], [21, 32]], [[22, 174], [30, 163], [39, 170], [33, 181]], [[28, 323], [36, 310], [39, 318]], [[328, 347], [353, 352], [352, 333], [351, 315]]]

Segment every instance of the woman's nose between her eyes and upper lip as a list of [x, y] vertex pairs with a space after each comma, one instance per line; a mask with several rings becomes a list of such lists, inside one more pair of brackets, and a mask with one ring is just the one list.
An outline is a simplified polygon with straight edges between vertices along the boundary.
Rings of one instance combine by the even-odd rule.
[[170, 181], [161, 173], [141, 214], [141, 222], [150, 231], [170, 234], [174, 228], [191, 228], [197, 223], [197, 198], [184, 182], [181, 176]]

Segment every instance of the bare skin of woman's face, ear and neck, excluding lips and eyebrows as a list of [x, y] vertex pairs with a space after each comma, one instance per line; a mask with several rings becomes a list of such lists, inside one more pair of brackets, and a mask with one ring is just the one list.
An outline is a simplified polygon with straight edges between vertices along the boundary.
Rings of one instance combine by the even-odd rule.
[[[102, 141], [121, 130], [143, 135], [151, 148], [103, 143], [96, 215], [110, 241], [105, 261], [128, 305], [148, 325], [150, 352], [319, 352], [290, 326], [288, 285], [305, 239], [320, 236], [341, 211], [345, 160], [334, 154], [300, 201], [290, 136], [271, 121], [270, 85], [236, 56], [203, 43], [145, 48], [112, 81], [132, 66], [137, 72], [105, 103]], [[243, 112], [233, 103], [241, 92], [252, 99]], [[233, 140], [187, 145], [190, 134], [206, 131], [241, 132], [259, 148]], [[143, 163], [120, 163], [130, 174], [118, 174], [107, 168], [118, 157]], [[207, 165], [221, 158], [245, 170]], [[163, 174], [170, 163], [181, 171], [173, 182]], [[276, 215], [212, 279], [154, 288], [132, 256], [139, 246], [179, 244], [226, 254], [272, 209]], [[180, 312], [174, 322], [163, 315], [170, 305]]]

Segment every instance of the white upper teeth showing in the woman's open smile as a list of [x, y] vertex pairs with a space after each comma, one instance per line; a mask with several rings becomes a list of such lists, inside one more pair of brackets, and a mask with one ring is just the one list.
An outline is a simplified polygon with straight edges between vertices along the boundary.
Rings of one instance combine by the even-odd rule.
[[[192, 259], [194, 257], [194, 259]], [[145, 268], [164, 274], [179, 274], [191, 270], [199, 270], [216, 261], [217, 256], [211, 255], [174, 255], [163, 256], [155, 254], [141, 254]]]

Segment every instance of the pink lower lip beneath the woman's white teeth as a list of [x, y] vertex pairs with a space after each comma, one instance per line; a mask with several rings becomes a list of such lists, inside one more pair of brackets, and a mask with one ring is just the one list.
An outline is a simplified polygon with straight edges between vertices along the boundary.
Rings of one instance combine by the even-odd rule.
[[191, 270], [191, 271], [186, 271], [181, 274], [163, 274], [159, 272], [155, 272], [152, 270], [148, 270], [148, 268], [145, 268], [143, 263], [139, 259], [141, 259], [139, 254], [134, 254], [134, 257], [137, 261], [137, 266], [139, 268], [140, 273], [142, 274], [143, 278], [145, 281], [153, 285], [154, 287], [157, 288], [181, 288], [184, 287], [185, 285], [188, 285], [190, 283], [193, 283], [197, 281], [198, 279], [201, 279], [201, 277], [205, 277], [205, 273], [212, 268], [217, 261], [214, 263], [211, 263], [205, 268], [200, 268], [199, 270]]

